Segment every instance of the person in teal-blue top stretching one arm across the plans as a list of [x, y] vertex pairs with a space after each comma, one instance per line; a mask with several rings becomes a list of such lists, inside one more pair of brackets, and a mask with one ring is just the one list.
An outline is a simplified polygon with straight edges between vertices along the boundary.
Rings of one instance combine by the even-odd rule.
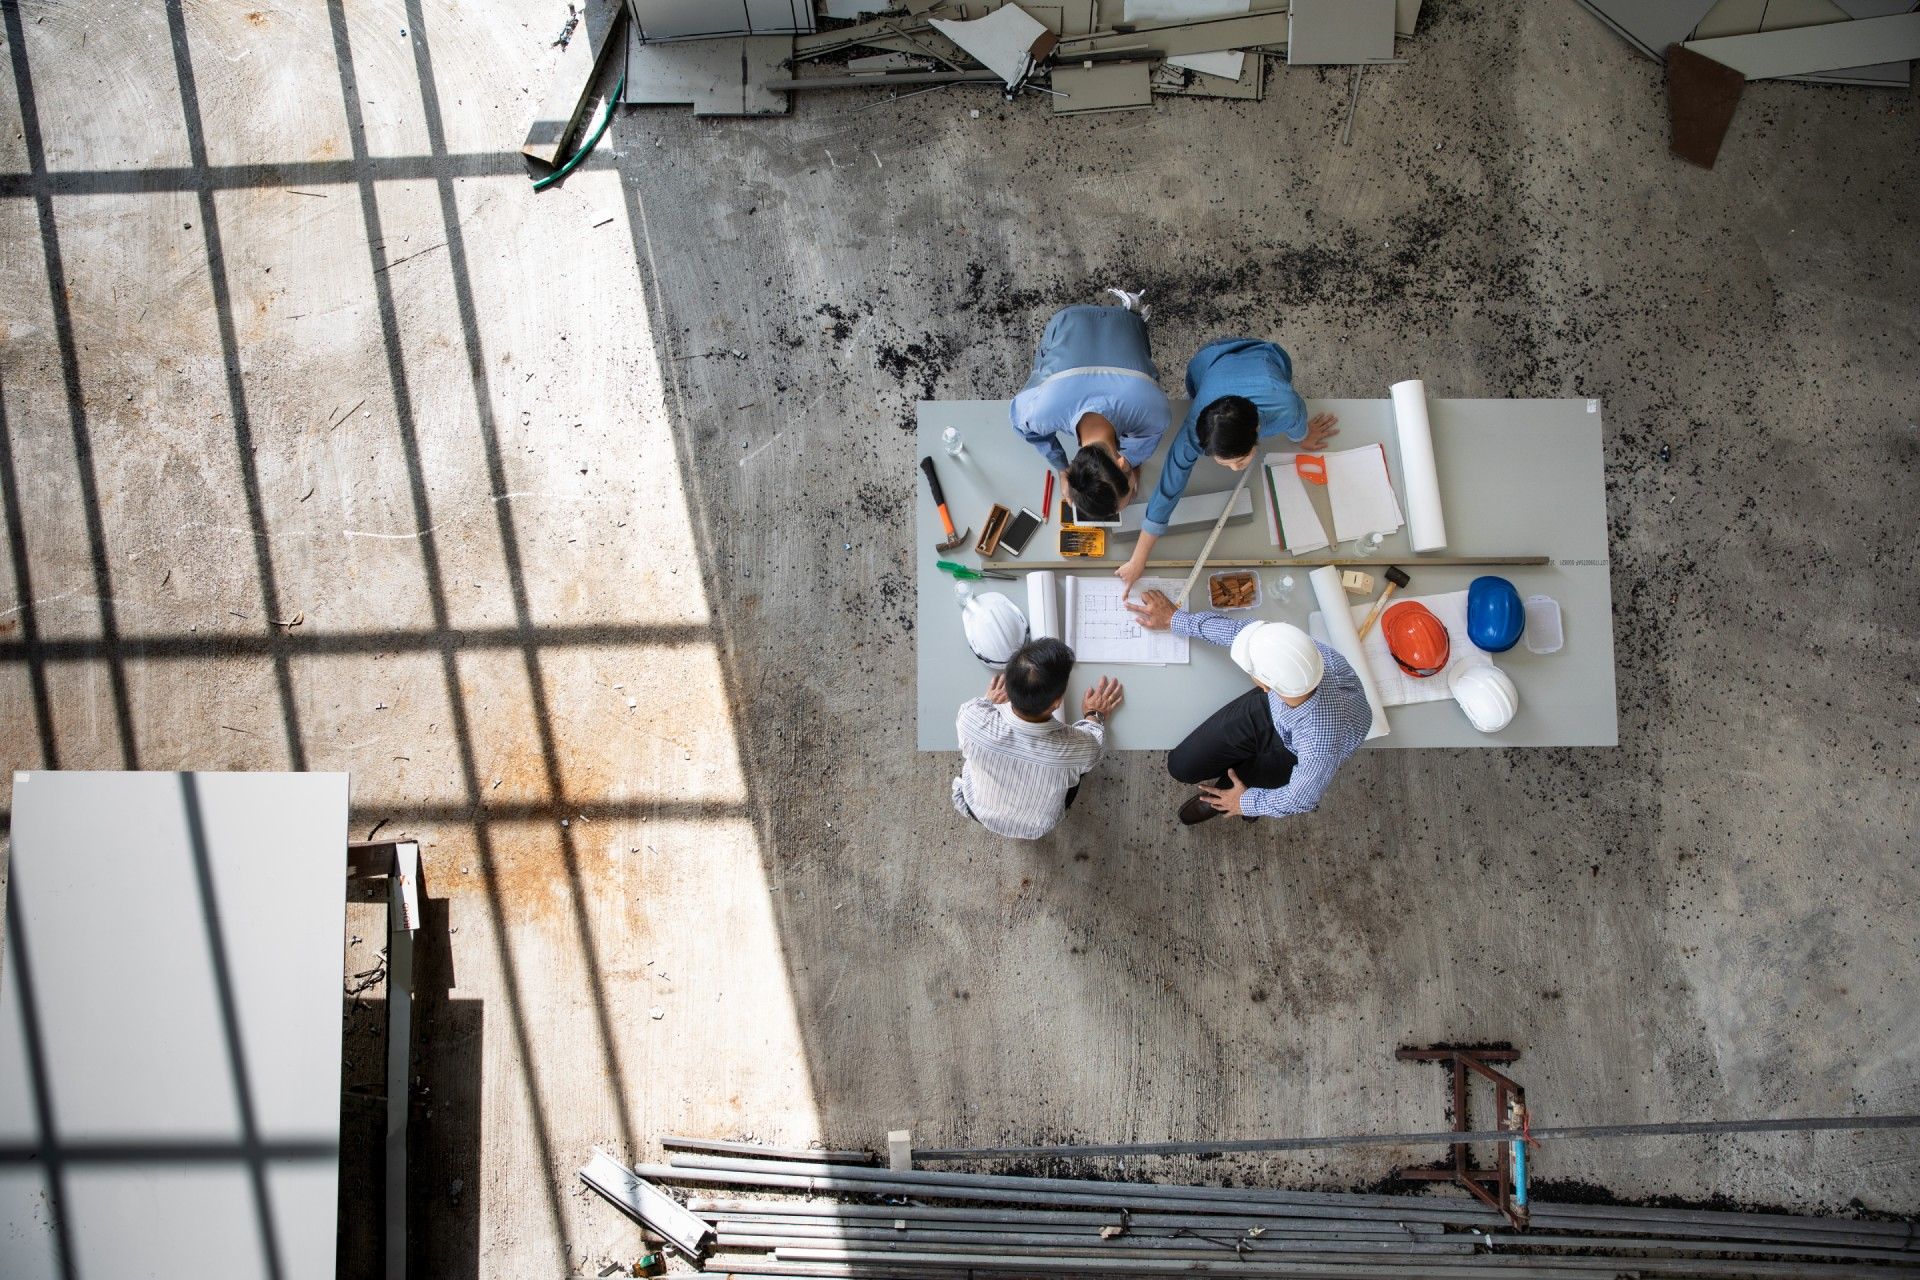
[[1331, 413], [1308, 418], [1308, 405], [1294, 390], [1294, 363], [1271, 342], [1221, 338], [1200, 347], [1187, 363], [1187, 395], [1194, 403], [1167, 447], [1133, 557], [1114, 570], [1129, 587], [1146, 572], [1146, 558], [1167, 532], [1173, 507], [1202, 455], [1227, 470], [1246, 470], [1260, 455], [1261, 439], [1284, 436], [1304, 451], [1315, 451], [1338, 434], [1338, 418]]

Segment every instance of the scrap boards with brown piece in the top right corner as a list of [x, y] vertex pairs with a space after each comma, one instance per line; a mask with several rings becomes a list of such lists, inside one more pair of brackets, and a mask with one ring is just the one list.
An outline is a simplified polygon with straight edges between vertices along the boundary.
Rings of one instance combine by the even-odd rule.
[[[1580, 0], [1667, 63], [1672, 154], [1713, 169], [1747, 81], [1907, 88], [1920, 0]], [[1298, 6], [1298, 0], [1296, 0]]]

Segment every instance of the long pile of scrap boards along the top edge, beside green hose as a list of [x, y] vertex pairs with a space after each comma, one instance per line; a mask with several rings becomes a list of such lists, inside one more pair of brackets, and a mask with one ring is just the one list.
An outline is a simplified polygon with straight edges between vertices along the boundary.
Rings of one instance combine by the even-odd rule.
[[[695, 115], [785, 115], [795, 92], [993, 84], [1058, 115], [1156, 94], [1260, 100], [1269, 61], [1394, 61], [1421, 0], [586, 0], [522, 154], [578, 155], [605, 98]], [[609, 88], [612, 86], [612, 88]]]

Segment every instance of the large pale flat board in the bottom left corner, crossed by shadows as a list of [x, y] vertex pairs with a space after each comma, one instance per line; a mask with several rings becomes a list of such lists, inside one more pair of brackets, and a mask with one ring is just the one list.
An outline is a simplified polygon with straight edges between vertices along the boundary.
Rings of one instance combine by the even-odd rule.
[[[13, 775], [0, 1274], [334, 1274], [346, 773]], [[278, 1257], [278, 1267], [269, 1257]]]

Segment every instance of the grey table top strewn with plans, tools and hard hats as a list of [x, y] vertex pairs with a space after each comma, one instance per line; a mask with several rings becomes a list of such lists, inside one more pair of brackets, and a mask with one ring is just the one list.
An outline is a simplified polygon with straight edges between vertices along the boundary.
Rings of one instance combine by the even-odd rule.
[[[1332, 413], [1340, 418], [1340, 434], [1329, 449], [1352, 449], [1380, 441], [1386, 447], [1394, 491], [1405, 509], [1405, 484], [1400, 468], [1400, 445], [1394, 434], [1390, 399], [1313, 399], [1313, 413]], [[1521, 695], [1521, 710], [1500, 733], [1480, 733], [1459, 712], [1452, 699], [1386, 708], [1392, 733], [1373, 739], [1369, 747], [1615, 747], [1619, 725], [1613, 685], [1613, 587], [1607, 566], [1607, 493], [1601, 466], [1599, 403], [1588, 399], [1432, 399], [1428, 401], [1434, 459], [1440, 470], [1440, 497], [1446, 510], [1448, 547], [1432, 555], [1544, 555], [1544, 566], [1484, 566], [1446, 568], [1423, 566], [1407, 545], [1402, 528], [1386, 539], [1367, 572], [1380, 574], [1388, 564], [1402, 566], [1413, 580], [1405, 595], [1438, 595], [1461, 591], [1480, 574], [1500, 574], [1513, 581], [1523, 597], [1551, 595], [1561, 606], [1565, 645], [1553, 654], [1532, 654], [1524, 641], [1494, 658], [1505, 670]], [[1142, 468], [1140, 497], [1146, 501], [1160, 478], [1167, 445], [1187, 413], [1185, 401], [1173, 401], [1173, 426], [1160, 441], [1160, 451]], [[941, 432], [956, 428], [966, 445], [954, 459], [941, 449]], [[1263, 441], [1261, 451], [1292, 449], [1284, 439]], [[947, 503], [956, 526], [972, 526], [966, 545], [935, 553], [945, 535], [925, 480], [916, 476], [916, 583], [918, 583], [918, 706], [920, 750], [958, 750], [954, 714], [960, 704], [987, 687], [991, 672], [968, 651], [954, 601], [952, 578], [935, 568], [947, 558], [981, 568], [973, 539], [998, 501], [1010, 509], [1039, 510], [1046, 478], [1046, 462], [1027, 441], [1014, 434], [1006, 401], [922, 401], [920, 453], [933, 457]], [[1206, 459], [1194, 466], [1188, 493], [1231, 489], [1238, 476]], [[1267, 535], [1267, 497], [1260, 476], [1248, 482], [1254, 491], [1250, 518], [1233, 520], [1221, 532], [1210, 560], [1281, 558]], [[1058, 503], [1058, 486], [1056, 486]], [[1325, 491], [1315, 491], [1315, 509], [1332, 535]], [[1058, 516], [1044, 524], [1027, 547], [1025, 560], [1054, 560]], [[1190, 560], [1206, 543], [1208, 530], [1171, 532], [1154, 547], [1156, 560]], [[1346, 551], [1313, 553], [1327, 557]], [[1108, 533], [1108, 557], [1085, 560], [1087, 574], [1110, 574], [1133, 553], [1133, 535]], [[1008, 558], [996, 557], [1004, 568]], [[1021, 612], [1027, 606], [1023, 574], [1016, 581], [979, 581], [975, 593], [1000, 591]], [[1235, 616], [1273, 618], [1308, 626], [1315, 612], [1313, 589], [1302, 568], [1260, 568], [1261, 595], [1271, 597], [1275, 580], [1292, 574], [1292, 599], [1267, 599], [1258, 610]], [[1187, 570], [1148, 570], [1150, 576], [1185, 580]], [[1200, 591], [1200, 587], [1196, 587]], [[1164, 750], [1179, 745], [1188, 731], [1206, 720], [1219, 704], [1248, 689], [1246, 676], [1233, 666], [1225, 649], [1194, 639], [1185, 666], [1100, 666], [1083, 662], [1073, 670], [1068, 706], [1079, 706], [1079, 695], [1100, 676], [1114, 676], [1125, 685], [1125, 702], [1114, 716], [1108, 735], [1117, 750]]]

